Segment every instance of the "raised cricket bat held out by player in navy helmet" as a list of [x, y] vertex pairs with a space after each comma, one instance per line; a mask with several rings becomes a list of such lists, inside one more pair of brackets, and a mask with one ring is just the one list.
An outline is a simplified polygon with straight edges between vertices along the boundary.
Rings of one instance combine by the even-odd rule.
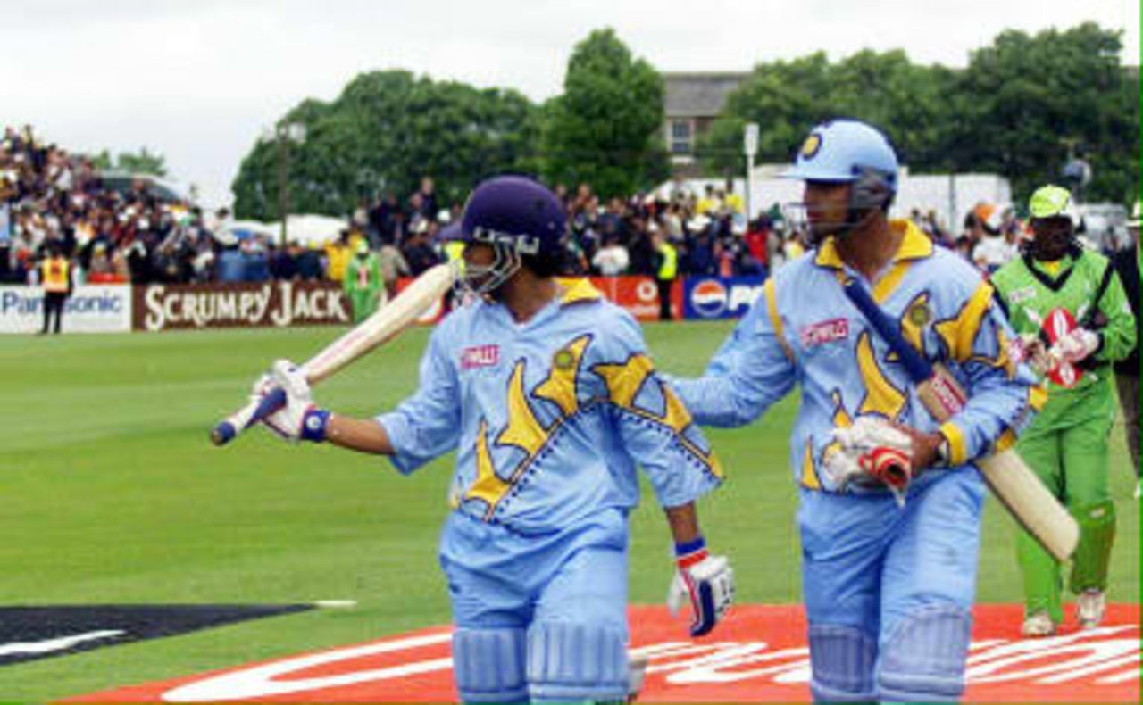
[[[302, 366], [306, 380], [311, 385], [318, 384], [378, 345], [395, 338], [434, 302], [440, 301], [455, 279], [456, 270], [451, 264], [438, 264], [426, 270], [379, 311], [310, 358]], [[225, 446], [285, 403], [286, 393], [280, 388], [273, 390], [261, 401], [251, 401], [223, 419], [210, 431], [210, 441], [215, 446]]]

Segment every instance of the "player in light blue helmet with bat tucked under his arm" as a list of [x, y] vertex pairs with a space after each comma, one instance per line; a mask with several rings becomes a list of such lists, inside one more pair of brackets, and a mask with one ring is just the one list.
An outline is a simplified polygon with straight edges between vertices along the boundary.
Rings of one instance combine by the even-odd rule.
[[[814, 699], [956, 700], [984, 499], [972, 463], [1013, 442], [1034, 379], [1009, 356], [1012, 330], [977, 272], [889, 219], [897, 158], [880, 130], [820, 125], [788, 176], [806, 183], [816, 249], [766, 282], [703, 377], [674, 385], [712, 426], [750, 424], [801, 386], [790, 465]], [[846, 296], [854, 280], [967, 391], [948, 423]]]

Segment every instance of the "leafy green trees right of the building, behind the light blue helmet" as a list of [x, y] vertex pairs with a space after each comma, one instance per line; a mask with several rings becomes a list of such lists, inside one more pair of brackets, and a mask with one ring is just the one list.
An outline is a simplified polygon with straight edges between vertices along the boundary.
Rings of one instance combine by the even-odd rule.
[[1140, 185], [1138, 70], [1119, 63], [1119, 33], [1087, 23], [999, 34], [966, 70], [912, 64], [903, 51], [823, 53], [759, 64], [700, 141], [711, 171], [743, 168], [742, 129], [760, 127], [759, 160], [784, 162], [816, 123], [866, 120], [913, 173], [992, 171], [1024, 200], [1058, 182], [1070, 153], [1094, 170], [1087, 200], [1132, 203]]

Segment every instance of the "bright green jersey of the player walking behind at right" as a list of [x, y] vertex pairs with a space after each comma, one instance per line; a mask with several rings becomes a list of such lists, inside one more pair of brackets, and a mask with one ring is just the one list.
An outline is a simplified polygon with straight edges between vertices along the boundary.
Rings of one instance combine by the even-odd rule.
[[1063, 309], [1079, 327], [1100, 336], [1100, 347], [1077, 364], [1084, 371], [1079, 380], [1071, 387], [1050, 383], [1049, 400], [1092, 392], [1092, 385], [1109, 385], [1111, 363], [1135, 347], [1135, 317], [1127, 295], [1110, 261], [1098, 253], [1077, 248], [1056, 263], [1024, 256], [998, 270], [991, 282], [1018, 334], [1044, 337], [1045, 321], [1053, 311]]

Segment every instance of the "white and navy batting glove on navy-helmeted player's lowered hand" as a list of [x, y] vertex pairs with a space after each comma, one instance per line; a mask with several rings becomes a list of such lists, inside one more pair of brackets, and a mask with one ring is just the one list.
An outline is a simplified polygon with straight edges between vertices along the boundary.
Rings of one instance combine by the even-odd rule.
[[734, 601], [734, 570], [724, 555], [710, 555], [702, 537], [676, 544], [677, 570], [666, 593], [671, 616], [679, 614], [684, 599], [690, 600], [690, 635], [702, 636], [718, 624]]

